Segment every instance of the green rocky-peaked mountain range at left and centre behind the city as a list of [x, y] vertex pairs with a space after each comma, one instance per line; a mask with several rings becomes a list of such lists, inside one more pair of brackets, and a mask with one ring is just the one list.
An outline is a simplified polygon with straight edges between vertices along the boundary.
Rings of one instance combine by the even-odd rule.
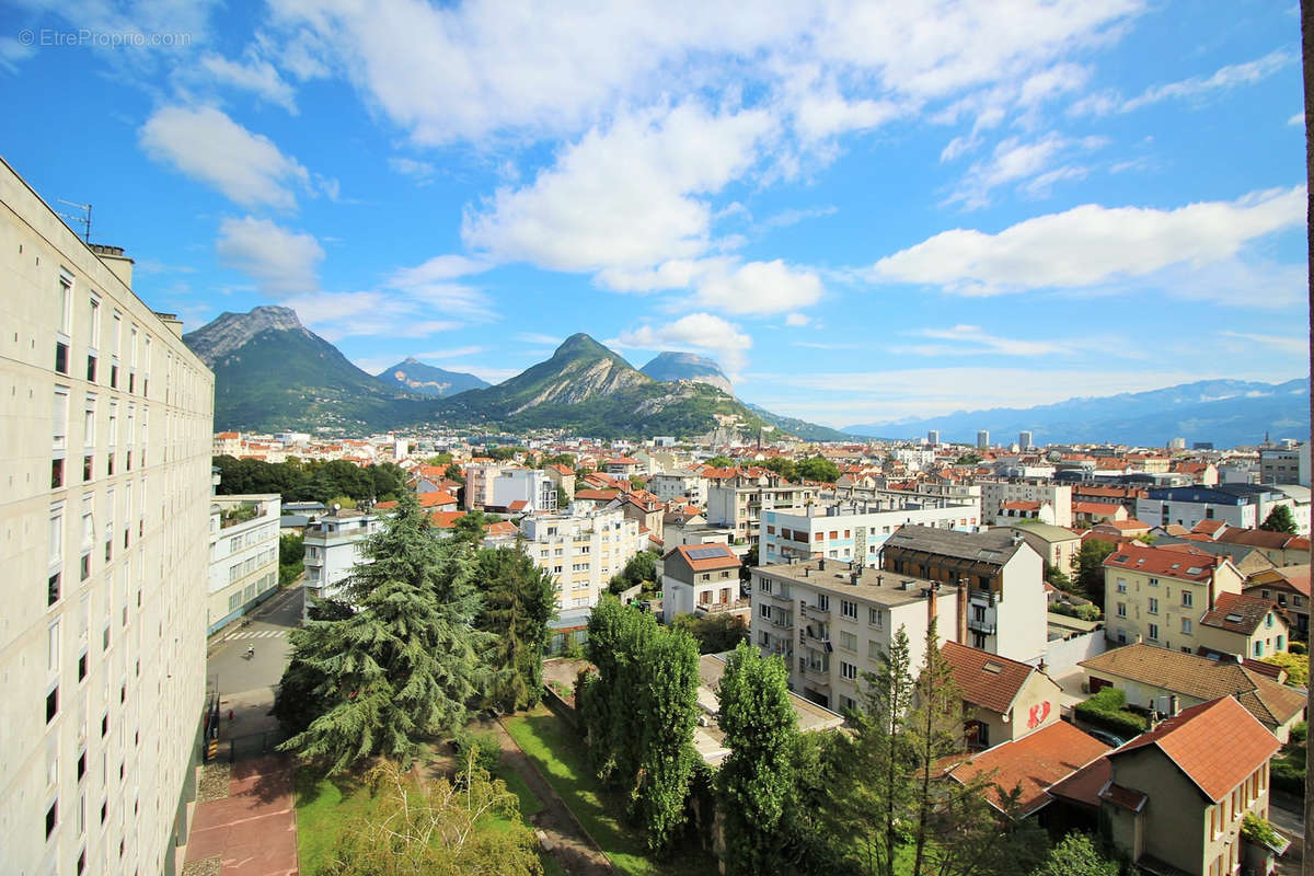
[[720, 386], [729, 381], [711, 360], [658, 356], [649, 365], [668, 377], [654, 380], [585, 334], [572, 335], [551, 359], [495, 386], [414, 359], [377, 377], [367, 374], [288, 307], [225, 313], [183, 340], [214, 370], [217, 429], [342, 433], [449, 426], [606, 439], [716, 429], [774, 436], [773, 423], [796, 423], [804, 431], [833, 432], [750, 410]]

